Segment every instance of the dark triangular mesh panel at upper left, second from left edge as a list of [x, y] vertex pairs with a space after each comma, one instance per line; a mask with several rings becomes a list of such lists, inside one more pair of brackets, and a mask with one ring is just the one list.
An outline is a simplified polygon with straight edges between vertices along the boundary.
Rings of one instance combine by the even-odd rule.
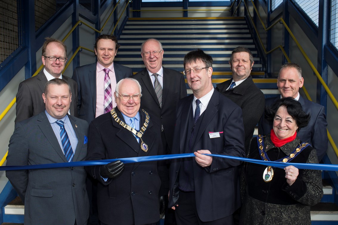
[[35, 0], [35, 31], [70, 0]]

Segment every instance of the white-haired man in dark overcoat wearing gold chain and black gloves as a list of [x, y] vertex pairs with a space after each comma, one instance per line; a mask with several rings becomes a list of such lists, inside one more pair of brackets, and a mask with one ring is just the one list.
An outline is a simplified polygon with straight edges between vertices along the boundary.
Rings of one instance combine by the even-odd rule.
[[[161, 122], [140, 108], [141, 86], [132, 78], [119, 81], [116, 107], [89, 126], [86, 160], [120, 159], [163, 154]], [[159, 196], [167, 195], [164, 161], [91, 166], [98, 180], [97, 205], [101, 225], [151, 224], [160, 220]], [[161, 187], [162, 183], [162, 187]]]

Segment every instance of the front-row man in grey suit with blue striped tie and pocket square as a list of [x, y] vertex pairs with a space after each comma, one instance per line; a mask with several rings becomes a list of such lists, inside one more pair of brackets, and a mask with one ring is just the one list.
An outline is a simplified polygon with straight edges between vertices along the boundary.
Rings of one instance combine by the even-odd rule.
[[[71, 96], [66, 81], [46, 83], [41, 96], [46, 110], [15, 124], [7, 166], [86, 158], [88, 123], [67, 114]], [[25, 225], [87, 224], [89, 201], [83, 167], [6, 171], [6, 176], [25, 203]]]

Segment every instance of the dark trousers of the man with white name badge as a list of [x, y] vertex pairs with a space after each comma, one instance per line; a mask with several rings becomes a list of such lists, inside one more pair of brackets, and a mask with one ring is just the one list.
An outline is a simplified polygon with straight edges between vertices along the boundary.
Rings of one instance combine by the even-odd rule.
[[180, 191], [177, 204], [178, 206], [175, 206], [177, 225], [234, 225], [233, 215], [214, 221], [201, 221], [197, 214], [195, 192]]

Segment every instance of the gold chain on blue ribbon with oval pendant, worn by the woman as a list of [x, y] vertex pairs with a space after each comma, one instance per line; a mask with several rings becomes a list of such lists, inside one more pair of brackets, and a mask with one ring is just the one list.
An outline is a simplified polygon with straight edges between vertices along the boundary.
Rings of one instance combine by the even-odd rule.
[[[266, 151], [264, 150], [264, 139], [263, 139], [263, 135], [258, 135], [257, 137], [257, 144], [258, 144], [258, 148], [259, 148], [259, 152], [260, 152], [260, 156], [262, 158], [262, 160], [264, 161], [271, 161], [268, 157], [268, 154], [266, 153]], [[295, 148], [294, 152], [291, 153], [290, 155], [282, 158], [282, 159], [279, 159], [279, 160], [276, 160], [274, 162], [283, 162], [283, 163], [286, 163], [286, 162], [290, 162], [291, 160], [293, 160], [296, 155], [298, 155], [299, 152], [301, 152], [302, 150], [304, 150], [304, 148], [306, 148], [307, 146], [309, 146], [310, 144], [309, 143], [299, 143], [299, 145]], [[273, 178], [273, 168], [272, 166], [268, 166], [265, 168], [264, 172], [263, 172], [263, 180], [265, 182], [270, 182]]]

